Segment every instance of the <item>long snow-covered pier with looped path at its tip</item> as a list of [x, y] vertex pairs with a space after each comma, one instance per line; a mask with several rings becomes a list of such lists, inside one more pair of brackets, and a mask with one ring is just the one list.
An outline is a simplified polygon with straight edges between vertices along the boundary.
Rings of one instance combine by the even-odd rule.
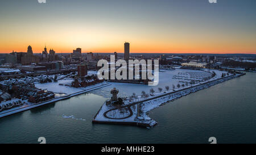
[[[177, 97], [174, 97], [172, 99], [167, 99], [166, 101], [164, 101], [164, 103], [165, 103], [165, 102], [168, 102], [170, 100], [174, 100], [176, 98], [182, 97], [184, 95], [188, 95], [188, 94], [193, 93], [195, 91], [202, 90], [202, 89], [205, 89], [207, 87], [210, 87], [210, 86], [216, 85], [218, 83], [227, 81], [229, 79], [233, 79], [233, 78], [240, 77], [240, 76], [243, 76], [243, 75], [245, 75], [245, 73], [232, 74], [230, 76], [221, 77], [221, 78], [218, 78], [218, 79], [214, 79], [212, 81], [200, 82], [200, 83], [197, 83], [197, 84], [195, 84], [191, 87], [185, 87], [183, 89], [179, 89], [179, 90], [176, 90], [176, 91], [171, 91], [171, 92], [168, 92], [168, 93], [166, 92], [166, 93], [163, 93], [163, 94], [160, 94], [160, 95], [152, 96], [148, 99], [139, 100], [137, 102], [126, 104], [126, 105], [121, 106], [121, 107], [113, 107], [113, 108], [110, 108], [110, 109], [107, 109], [107, 110], [102, 110], [102, 107], [106, 106], [105, 105], [106, 102], [105, 102], [104, 104], [102, 104], [100, 110], [94, 116], [94, 118], [92, 120], [92, 123], [136, 125], [138, 127], [152, 127], [156, 124], [156, 122], [154, 123], [153, 120], [139, 120], [138, 119], [139, 112], [140, 112], [139, 105], [141, 103], [146, 104], [146, 102], [149, 102], [149, 101], [154, 100], [154, 99], [164, 98], [164, 97], [167, 97], [168, 95], [176, 95], [177, 96]], [[161, 104], [163, 104], [163, 103], [161, 103]], [[133, 116], [133, 114], [134, 114], [133, 110], [131, 110], [131, 106], [134, 106], [134, 105], [137, 105], [137, 114], [136, 114], [136, 119], [131, 120], [129, 118], [131, 118], [131, 116]], [[122, 117], [122, 118], [113, 118], [113, 117], [110, 117], [110, 116], [107, 115], [109, 112], [115, 111], [115, 110], [118, 110], [118, 109], [121, 109], [121, 108], [126, 108], [129, 111], [129, 115], [127, 115], [125, 117]], [[145, 111], [145, 113], [147, 113], [147, 112], [148, 111]], [[99, 116], [99, 115], [102, 115], [103, 119], [102, 119], [102, 116]], [[97, 119], [97, 118], [100, 118], [100, 119]]]

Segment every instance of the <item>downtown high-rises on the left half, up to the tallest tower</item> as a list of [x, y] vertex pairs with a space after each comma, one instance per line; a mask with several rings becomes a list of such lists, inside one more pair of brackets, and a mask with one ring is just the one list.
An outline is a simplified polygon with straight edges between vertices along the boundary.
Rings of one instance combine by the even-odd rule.
[[[113, 53], [117, 60], [117, 52]], [[130, 54], [130, 44], [125, 43], [124, 59], [128, 60]], [[73, 53], [56, 53], [53, 49], [47, 51], [44, 47], [42, 53], [33, 53], [32, 47], [28, 46], [27, 52], [11, 52], [0, 55], [0, 68], [16, 68], [23, 72], [42, 72], [42, 71], [61, 71], [71, 69], [70, 72], [77, 68], [80, 76], [87, 74], [87, 69], [96, 70], [98, 60], [110, 60], [108, 55], [99, 55], [92, 52], [82, 53], [81, 48], [76, 48]], [[14, 70], [16, 72], [17, 70]], [[63, 71], [64, 72], [64, 71]], [[14, 74], [11, 70], [2, 72], [2, 75]]]

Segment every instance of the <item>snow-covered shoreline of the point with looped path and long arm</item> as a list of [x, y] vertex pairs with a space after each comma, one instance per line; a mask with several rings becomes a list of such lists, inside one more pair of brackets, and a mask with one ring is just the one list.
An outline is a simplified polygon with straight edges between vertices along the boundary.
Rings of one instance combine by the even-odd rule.
[[[204, 81], [204, 82], [196, 83], [191, 86], [176, 89], [175, 91], [170, 90], [163, 93], [156, 93], [154, 96], [151, 96], [148, 99], [144, 99], [138, 102], [134, 102], [134, 103], [125, 102], [125, 104], [123, 105], [123, 108], [130, 108], [131, 110], [130, 112], [133, 112], [133, 115], [130, 115], [129, 111], [126, 111], [125, 114], [117, 114], [118, 113], [118, 111], [116, 111], [117, 108], [106, 106], [106, 104], [104, 103], [102, 104], [100, 110], [97, 112], [96, 116], [94, 117], [93, 123], [112, 123], [112, 124], [114, 123], [114, 124], [128, 124], [128, 125], [142, 124], [143, 127], [152, 127], [157, 122], [148, 116], [148, 112], [153, 110], [154, 108], [157, 108], [168, 101], [180, 98], [184, 95], [188, 95], [195, 91], [208, 88], [210, 86], [216, 85], [224, 81], [228, 81], [229, 79], [236, 78], [242, 75], [243, 74], [232, 74], [226, 77], [217, 77], [217, 78], [215, 77], [208, 81]], [[138, 115], [138, 110], [136, 110], [138, 105], [140, 107], [139, 115]], [[113, 114], [109, 114], [110, 111], [111, 112], [113, 111], [114, 113], [112, 112]], [[130, 116], [127, 118], [127, 115], [130, 115]], [[107, 117], [110, 116], [110, 118], [106, 118], [106, 116]], [[125, 118], [125, 119], [122, 119], [122, 118]]]

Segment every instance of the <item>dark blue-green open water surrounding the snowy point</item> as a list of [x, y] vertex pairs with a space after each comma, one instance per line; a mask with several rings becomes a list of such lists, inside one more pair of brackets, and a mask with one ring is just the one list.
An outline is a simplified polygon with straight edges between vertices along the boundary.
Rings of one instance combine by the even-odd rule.
[[[0, 119], [0, 143], [217, 143], [256, 142], [256, 73], [197, 91], [152, 110], [159, 124], [146, 129], [92, 124], [106, 98], [82, 94]], [[71, 116], [74, 117], [64, 117]]]

